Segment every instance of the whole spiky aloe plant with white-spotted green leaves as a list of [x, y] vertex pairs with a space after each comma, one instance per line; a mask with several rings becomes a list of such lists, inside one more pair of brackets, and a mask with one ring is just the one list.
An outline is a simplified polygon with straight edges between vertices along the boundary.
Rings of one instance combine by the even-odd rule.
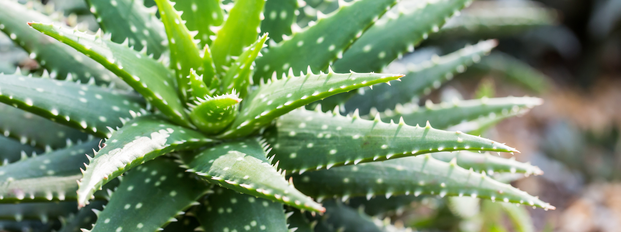
[[[299, 29], [296, 1], [156, 0], [148, 8], [142, 1], [87, 0], [101, 28], [91, 33], [0, 1], [0, 29], [55, 73], [0, 74], [0, 203], [70, 202], [66, 213], [75, 219], [63, 231], [117, 232], [166, 230], [188, 209], [206, 231], [312, 230], [316, 218], [304, 212], [338, 215], [349, 209], [320, 202], [358, 195], [467, 195], [553, 209], [486, 176], [541, 174], [537, 167], [468, 152], [517, 149], [437, 129], [508, 117], [540, 99], [391, 111], [496, 46], [487, 40], [407, 75], [381, 73], [468, 2], [430, 1], [387, 18], [396, 0], [340, 1], [335, 12]], [[9, 17], [16, 12], [20, 17]], [[399, 29], [411, 20], [420, 24]], [[80, 62], [43, 64], [55, 56]], [[72, 72], [78, 78], [69, 78]], [[351, 97], [347, 92], [373, 86], [366, 96], [373, 101], [347, 104], [363, 115], [303, 109], [327, 98], [338, 105]], [[400, 96], [374, 97], [391, 89]], [[366, 115], [371, 108], [388, 111]], [[91, 209], [97, 218], [85, 224]], [[368, 216], [328, 221], [356, 220], [374, 225]]]

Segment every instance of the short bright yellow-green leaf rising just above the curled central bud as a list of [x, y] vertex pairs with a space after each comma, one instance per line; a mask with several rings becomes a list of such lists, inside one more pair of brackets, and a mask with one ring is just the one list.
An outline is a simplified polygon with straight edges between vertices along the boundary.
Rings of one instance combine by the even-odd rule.
[[222, 78], [222, 87], [224, 92], [230, 93], [233, 89], [237, 90], [239, 97], [244, 98], [248, 94], [248, 86], [252, 83], [250, 75], [252, 74], [253, 63], [257, 55], [259, 55], [261, 48], [265, 45], [265, 40], [268, 39], [268, 34], [265, 33], [259, 40], [245, 48], [242, 55], [235, 60], [227, 71], [227, 74]]

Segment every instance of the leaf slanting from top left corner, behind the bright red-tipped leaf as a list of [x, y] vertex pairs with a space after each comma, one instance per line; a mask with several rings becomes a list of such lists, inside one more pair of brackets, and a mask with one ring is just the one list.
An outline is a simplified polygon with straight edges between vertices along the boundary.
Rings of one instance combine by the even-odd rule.
[[86, 83], [94, 78], [97, 84], [114, 83], [117, 87], [129, 88], [115, 74], [102, 68], [96, 61], [73, 50], [63, 43], [50, 40], [49, 37], [30, 29], [25, 22], [53, 22], [43, 14], [27, 9], [15, 1], [0, 2], [0, 29], [24, 48], [30, 57], [39, 62], [52, 78], [79, 79]]

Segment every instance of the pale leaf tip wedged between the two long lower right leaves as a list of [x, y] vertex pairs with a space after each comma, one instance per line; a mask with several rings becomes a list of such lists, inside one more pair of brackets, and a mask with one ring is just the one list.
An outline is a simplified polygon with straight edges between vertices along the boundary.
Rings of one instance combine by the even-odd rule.
[[541, 175], [543, 171], [537, 166], [533, 166], [530, 163], [522, 163], [515, 161], [515, 158], [505, 159], [499, 156], [494, 156], [489, 153], [479, 154], [471, 151], [457, 151], [455, 153], [450, 152], [438, 152], [431, 153], [434, 159], [440, 161], [450, 162], [455, 159], [457, 165], [465, 169], [473, 169], [475, 172], [486, 172], [487, 174], [494, 174], [494, 172], [511, 172], [511, 173], [525, 173], [527, 175], [535, 174]]

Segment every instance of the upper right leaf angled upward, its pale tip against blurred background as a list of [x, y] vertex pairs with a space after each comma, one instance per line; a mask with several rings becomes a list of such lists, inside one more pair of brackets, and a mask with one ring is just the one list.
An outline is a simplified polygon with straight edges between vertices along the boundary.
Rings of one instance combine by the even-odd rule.
[[[361, 115], [366, 115], [369, 114], [371, 107], [383, 112], [386, 109], [394, 109], [396, 104], [411, 102], [413, 98], [429, 94], [432, 89], [437, 89], [446, 81], [453, 79], [453, 74], [462, 73], [467, 66], [480, 61], [481, 56], [487, 55], [496, 45], [496, 40], [487, 40], [476, 45], [468, 45], [448, 55], [433, 56], [431, 60], [419, 64], [409, 63], [406, 65], [407, 74], [401, 78], [401, 83], [394, 86], [373, 86], [373, 89], [365, 87], [362, 92], [358, 91], [359, 94], [353, 91], [342, 94], [352, 96], [345, 102], [345, 110], [353, 112], [359, 109]], [[332, 108], [341, 103], [326, 104], [327, 100], [330, 99], [321, 102], [324, 107]]]

